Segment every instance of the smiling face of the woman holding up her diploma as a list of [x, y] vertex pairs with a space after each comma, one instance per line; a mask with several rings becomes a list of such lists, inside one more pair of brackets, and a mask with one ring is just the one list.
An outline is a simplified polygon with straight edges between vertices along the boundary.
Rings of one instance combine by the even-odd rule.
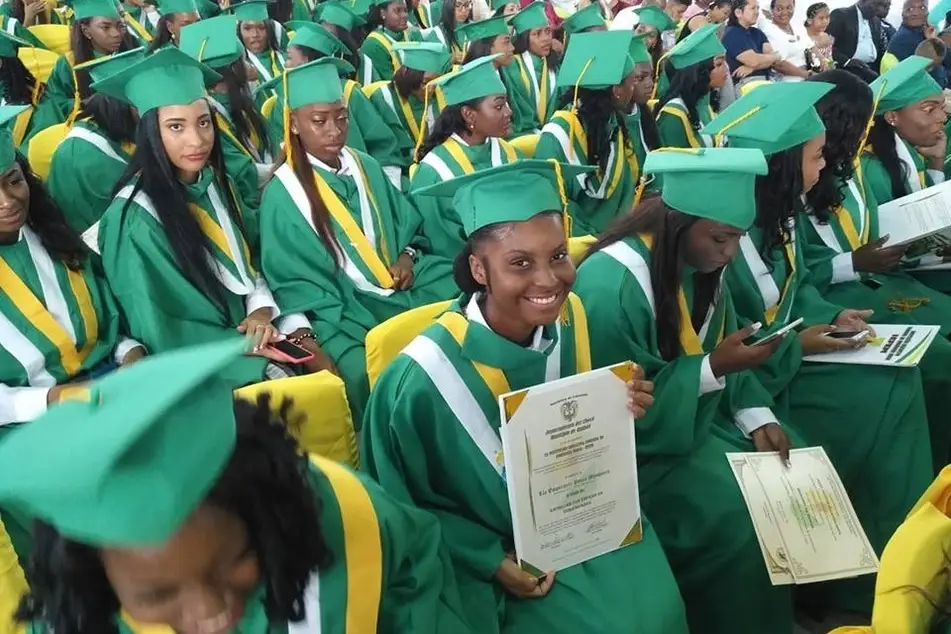
[[493, 238], [469, 258], [473, 278], [488, 289], [487, 312], [515, 332], [555, 323], [576, 277], [561, 215], [508, 224]]

